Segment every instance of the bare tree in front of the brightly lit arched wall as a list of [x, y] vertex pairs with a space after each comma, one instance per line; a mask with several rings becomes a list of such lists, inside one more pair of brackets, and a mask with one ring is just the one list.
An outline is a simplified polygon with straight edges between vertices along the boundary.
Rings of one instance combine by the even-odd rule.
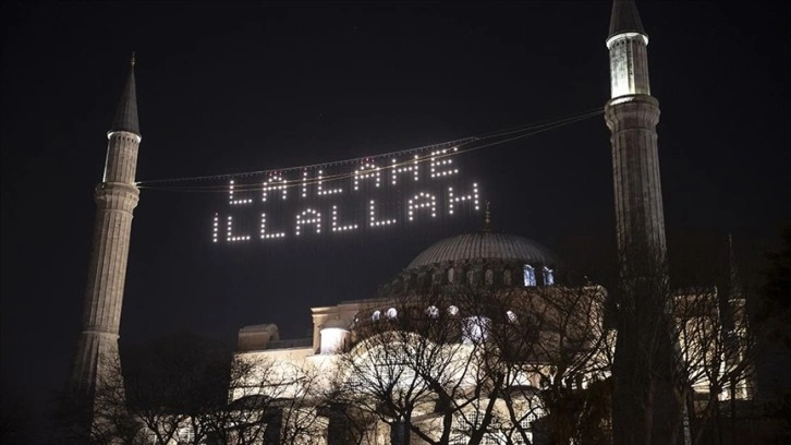
[[373, 317], [357, 321], [353, 348], [341, 357], [344, 401], [377, 416], [396, 440], [448, 444], [454, 420], [485, 395], [476, 364], [482, 341], [470, 337], [483, 326], [453, 303], [431, 292], [374, 304]]

